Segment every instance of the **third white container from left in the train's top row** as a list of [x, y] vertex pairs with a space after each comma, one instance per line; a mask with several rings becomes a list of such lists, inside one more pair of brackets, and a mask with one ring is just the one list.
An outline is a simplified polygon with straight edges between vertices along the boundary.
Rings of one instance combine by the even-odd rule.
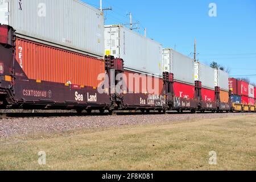
[[174, 74], [174, 80], [195, 84], [194, 60], [173, 49], [163, 49], [164, 72]]

